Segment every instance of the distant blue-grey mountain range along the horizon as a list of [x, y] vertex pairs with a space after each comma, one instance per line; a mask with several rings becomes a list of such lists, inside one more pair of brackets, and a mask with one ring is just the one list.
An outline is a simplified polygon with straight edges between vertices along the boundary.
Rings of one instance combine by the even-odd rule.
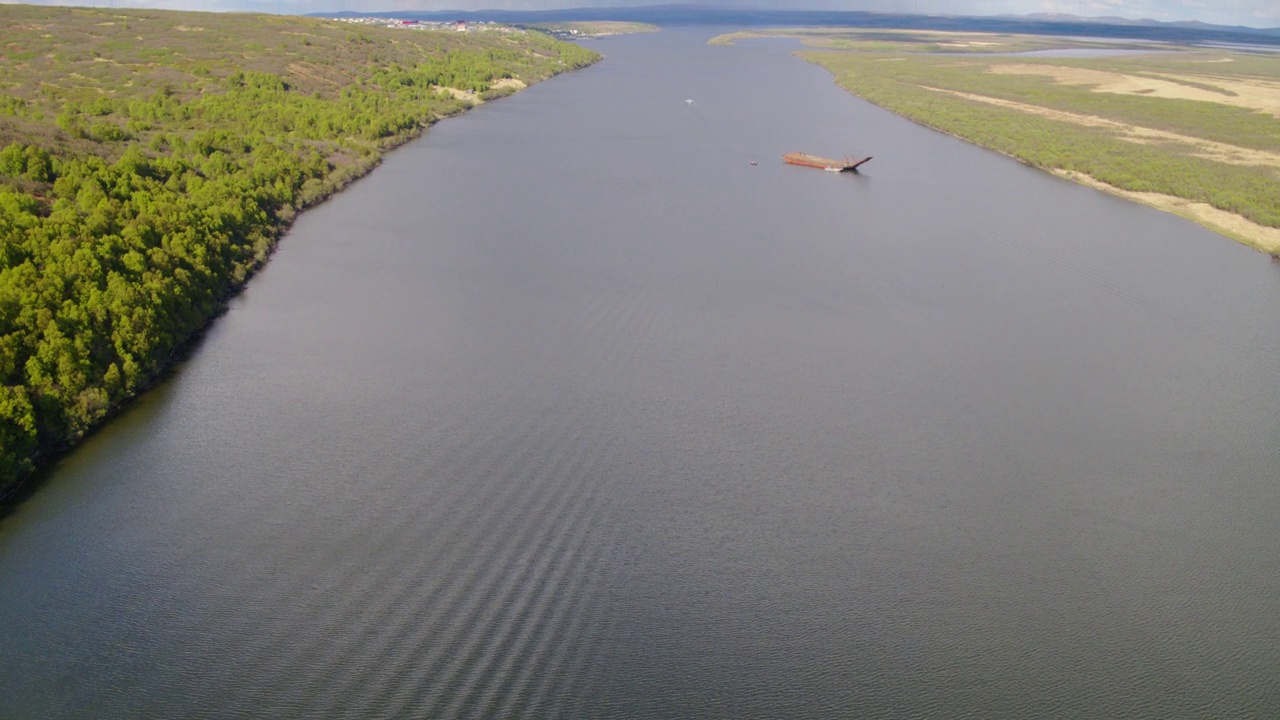
[[1036, 15], [905, 15], [837, 10], [740, 10], [723, 6], [648, 5], [639, 8], [579, 8], [567, 10], [447, 10], [430, 13], [316, 13], [323, 17], [387, 17], [420, 20], [493, 20], [530, 24], [570, 20], [630, 20], [658, 26], [844, 26], [969, 32], [1019, 32], [1153, 40], [1166, 42], [1226, 42], [1280, 47], [1280, 28], [1215, 26], [1201, 22]]

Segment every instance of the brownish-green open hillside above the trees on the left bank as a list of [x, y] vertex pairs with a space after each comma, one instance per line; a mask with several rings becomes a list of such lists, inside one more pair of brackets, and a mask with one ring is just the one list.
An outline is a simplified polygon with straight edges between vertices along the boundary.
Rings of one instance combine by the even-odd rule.
[[[294, 15], [0, 5], [0, 147], [35, 142], [110, 155], [123, 146], [68, 137], [55, 117], [68, 106], [119, 115], [122, 105], [156, 92], [189, 102], [224, 92], [233, 73], [278, 76], [296, 95], [334, 100], [378, 68], [489, 53], [518, 81], [494, 83], [489, 95], [502, 95], [557, 72], [556, 47], [517, 28], [458, 33]], [[465, 102], [476, 99], [454, 90]], [[154, 133], [138, 127], [131, 135], [145, 146]]]

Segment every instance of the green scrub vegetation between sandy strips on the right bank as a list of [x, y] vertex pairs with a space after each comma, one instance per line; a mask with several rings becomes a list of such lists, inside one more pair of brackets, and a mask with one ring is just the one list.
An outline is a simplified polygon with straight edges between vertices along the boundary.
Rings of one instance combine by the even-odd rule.
[[[1275, 168], [1234, 165], [1165, 145], [1135, 143], [1107, 128], [1029, 115], [928, 87], [1140, 122], [1143, 127], [1271, 150], [1271, 143], [1280, 140], [1280, 120], [1268, 115], [1192, 100], [1091, 94], [1038, 76], [983, 73], [980, 67], [954, 64], [954, 59], [948, 59], [950, 67], [941, 67], [947, 61], [937, 58], [893, 63], [877, 63], [861, 54], [805, 53], [804, 58], [833, 72], [841, 86], [860, 97], [1038, 168], [1074, 170], [1124, 190], [1206, 202], [1261, 225], [1280, 227], [1280, 176]], [[1155, 106], [1142, 113], [1137, 106], [1144, 104]], [[1179, 115], [1166, 105], [1183, 108], [1187, 114]], [[1267, 127], [1271, 137], [1262, 132]]]

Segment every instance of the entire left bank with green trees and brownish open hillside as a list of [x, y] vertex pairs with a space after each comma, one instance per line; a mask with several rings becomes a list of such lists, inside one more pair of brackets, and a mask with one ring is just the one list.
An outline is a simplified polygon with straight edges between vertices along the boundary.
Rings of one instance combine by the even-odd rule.
[[20, 5], [0, 20], [0, 491], [152, 383], [298, 210], [518, 86], [498, 81], [599, 59], [497, 26]]

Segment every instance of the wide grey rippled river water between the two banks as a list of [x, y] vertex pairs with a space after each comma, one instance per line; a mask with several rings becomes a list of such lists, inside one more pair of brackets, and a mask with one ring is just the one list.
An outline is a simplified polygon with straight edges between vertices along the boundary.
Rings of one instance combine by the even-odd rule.
[[1280, 266], [709, 36], [305, 213], [0, 520], [0, 717], [1280, 717]]

